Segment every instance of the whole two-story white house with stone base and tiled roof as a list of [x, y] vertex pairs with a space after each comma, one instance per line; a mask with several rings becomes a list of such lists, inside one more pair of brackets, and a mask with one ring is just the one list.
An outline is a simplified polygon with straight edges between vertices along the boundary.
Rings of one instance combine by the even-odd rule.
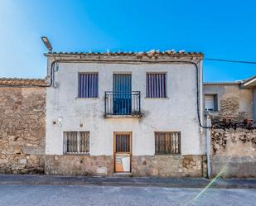
[[46, 57], [46, 174], [205, 173], [203, 54]]

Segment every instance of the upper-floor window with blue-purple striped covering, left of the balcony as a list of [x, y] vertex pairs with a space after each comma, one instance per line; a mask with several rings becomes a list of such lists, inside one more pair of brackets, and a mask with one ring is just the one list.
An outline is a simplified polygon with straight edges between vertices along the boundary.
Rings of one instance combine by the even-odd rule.
[[98, 98], [98, 73], [80, 73], [78, 81], [79, 98]]

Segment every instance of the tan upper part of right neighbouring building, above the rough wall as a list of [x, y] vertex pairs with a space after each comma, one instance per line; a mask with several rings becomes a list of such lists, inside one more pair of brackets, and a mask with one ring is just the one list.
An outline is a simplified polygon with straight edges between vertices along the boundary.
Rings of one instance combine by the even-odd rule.
[[235, 82], [204, 83], [205, 112], [213, 121], [231, 119], [256, 122], [256, 76]]

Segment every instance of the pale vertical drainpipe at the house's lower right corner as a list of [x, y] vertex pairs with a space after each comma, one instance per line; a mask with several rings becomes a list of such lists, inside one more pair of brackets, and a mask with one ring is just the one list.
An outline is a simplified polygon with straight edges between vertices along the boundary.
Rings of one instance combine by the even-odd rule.
[[205, 137], [206, 137], [206, 158], [207, 158], [207, 176], [211, 178], [211, 168], [210, 168], [210, 149], [211, 149], [211, 139], [210, 139], [210, 128], [211, 121], [210, 115], [206, 113], [206, 128], [205, 128]]

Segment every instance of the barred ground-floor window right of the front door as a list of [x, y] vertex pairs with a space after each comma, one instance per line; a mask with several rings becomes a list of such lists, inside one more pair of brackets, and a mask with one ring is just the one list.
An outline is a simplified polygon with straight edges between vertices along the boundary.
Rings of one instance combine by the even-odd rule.
[[155, 132], [155, 154], [181, 154], [181, 132]]

